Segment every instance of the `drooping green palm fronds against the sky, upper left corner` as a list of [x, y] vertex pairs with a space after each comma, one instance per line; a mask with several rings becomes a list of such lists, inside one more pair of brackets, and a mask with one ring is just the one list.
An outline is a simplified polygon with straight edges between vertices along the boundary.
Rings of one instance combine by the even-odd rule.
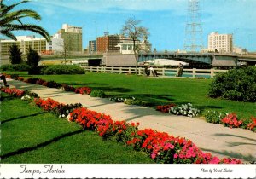
[[3, 3], [4, 0], [0, 0], [0, 32], [2, 35], [17, 40], [14, 31], [32, 31], [42, 35], [49, 41], [50, 36], [49, 33], [44, 30], [43, 27], [33, 25], [33, 24], [24, 24], [21, 20], [24, 18], [32, 18], [34, 20], [41, 20], [41, 16], [31, 9], [20, 9], [16, 11], [12, 11], [12, 9], [16, 8], [20, 3], [27, 3], [28, 0], [23, 0], [20, 3], [14, 3], [11, 5], [6, 5]]

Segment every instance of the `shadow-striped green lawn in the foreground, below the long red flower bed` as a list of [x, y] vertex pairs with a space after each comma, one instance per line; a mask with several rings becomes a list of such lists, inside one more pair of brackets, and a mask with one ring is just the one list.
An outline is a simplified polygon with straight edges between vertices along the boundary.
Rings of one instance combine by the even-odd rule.
[[139, 153], [1, 93], [1, 163], [150, 164]]

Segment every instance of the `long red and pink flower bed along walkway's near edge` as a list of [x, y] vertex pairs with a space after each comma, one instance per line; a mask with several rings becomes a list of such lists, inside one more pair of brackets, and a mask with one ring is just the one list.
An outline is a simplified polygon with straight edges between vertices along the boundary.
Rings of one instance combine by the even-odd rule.
[[[7, 88], [6, 88], [7, 89]], [[1, 89], [3, 90], [3, 88]], [[3, 90], [3, 91], [10, 91]], [[20, 93], [22, 90], [13, 89]], [[10, 94], [14, 94], [10, 92]], [[20, 95], [15, 95], [19, 96]], [[68, 111], [64, 104], [50, 98], [44, 100], [34, 99], [38, 107], [43, 107], [49, 112]], [[60, 107], [61, 110], [58, 110]], [[62, 108], [64, 107], [64, 108]], [[67, 106], [66, 106], [67, 107]], [[211, 153], [203, 153], [192, 141], [182, 137], [169, 136], [167, 133], [158, 132], [152, 129], [138, 130], [139, 124], [126, 123], [125, 121], [113, 121], [105, 114], [91, 111], [81, 105], [71, 105], [73, 112], [67, 118], [83, 126], [84, 130], [95, 130], [103, 138], [111, 137], [116, 141], [123, 142], [136, 150], [144, 151], [154, 159], [156, 163], [167, 164], [241, 164], [238, 159], [218, 159]], [[67, 113], [66, 113], [67, 114]], [[65, 115], [66, 116], [66, 115]]]

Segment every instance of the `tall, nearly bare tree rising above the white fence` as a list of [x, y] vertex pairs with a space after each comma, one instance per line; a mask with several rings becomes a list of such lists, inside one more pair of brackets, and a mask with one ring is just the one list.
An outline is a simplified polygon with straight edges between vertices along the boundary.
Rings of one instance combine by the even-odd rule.
[[137, 63], [138, 63], [138, 54], [141, 51], [141, 46], [138, 45], [136, 42], [139, 40], [147, 39], [149, 36], [148, 29], [139, 26], [141, 23], [140, 20], [135, 20], [134, 18], [129, 18], [128, 20], [125, 21], [125, 25], [122, 27], [121, 33], [128, 37], [131, 38], [132, 43], [133, 43], [133, 53], [136, 59], [136, 74], [137, 74]]

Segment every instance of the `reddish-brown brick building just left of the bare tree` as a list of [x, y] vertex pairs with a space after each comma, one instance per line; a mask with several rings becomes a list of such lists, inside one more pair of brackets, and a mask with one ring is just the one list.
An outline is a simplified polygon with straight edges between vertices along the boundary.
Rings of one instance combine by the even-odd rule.
[[116, 47], [120, 43], [119, 35], [105, 35], [96, 39], [96, 49], [99, 53], [114, 53], [119, 52], [119, 47]]

